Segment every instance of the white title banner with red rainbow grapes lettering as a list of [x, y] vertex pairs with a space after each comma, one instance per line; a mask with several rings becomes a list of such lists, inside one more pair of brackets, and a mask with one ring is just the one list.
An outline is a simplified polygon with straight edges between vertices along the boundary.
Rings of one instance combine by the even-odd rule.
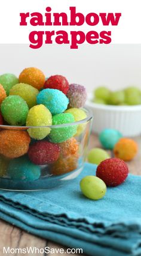
[[[51, 10], [50, 8], [46, 10], [47, 7], [50, 7]], [[44, 24], [33, 26], [33, 17], [35, 17], [33, 13], [36, 12], [40, 14], [38, 16], [40, 24], [45, 23], [45, 21], [54, 23], [54, 13], [67, 14], [68, 20], [66, 22], [69, 24], [70, 7], [76, 7], [76, 13], [83, 14], [85, 19], [83, 25], [56, 26]], [[26, 19], [23, 19], [20, 13], [26, 13]], [[90, 15], [90, 13], [94, 13], [95, 16]], [[117, 26], [111, 25], [111, 22], [109, 22], [109, 25], [103, 25], [103, 19], [107, 18], [109, 13], [113, 13], [115, 18], [116, 15], [118, 16], [121, 13], [121, 16], [117, 17], [117, 19], [119, 18]], [[47, 14], [48, 19], [46, 19]], [[103, 19], [102, 14], [105, 15]], [[79, 20], [78, 18], [76, 17], [77, 21]], [[63, 20], [65, 23], [65, 18]], [[20, 22], [26, 22], [27, 25], [20, 26]], [[67, 34], [63, 34], [62, 37], [66, 44], [69, 44], [70, 47], [72, 46], [72, 49], [76, 49], [82, 43], [141, 43], [140, 0], [1, 0], [0, 24], [0, 43], [27, 43], [31, 47], [35, 46], [35, 48], [41, 47], [42, 44], [45, 44], [45, 41], [46, 43], [51, 43], [51, 41], [52, 43], [61, 43], [62, 38], [58, 37], [56, 39], [56, 32], [60, 30], [68, 33], [68, 38]], [[36, 34], [33, 31], [39, 32]], [[102, 33], [102, 31], [105, 31], [105, 33]]]

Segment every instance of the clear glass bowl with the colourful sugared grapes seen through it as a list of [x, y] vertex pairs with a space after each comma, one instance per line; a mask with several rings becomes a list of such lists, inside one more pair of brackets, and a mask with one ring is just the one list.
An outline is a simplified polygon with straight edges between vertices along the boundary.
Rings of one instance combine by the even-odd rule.
[[77, 177], [87, 155], [92, 121], [91, 112], [83, 110], [87, 117], [75, 123], [0, 125], [0, 189], [49, 189]]

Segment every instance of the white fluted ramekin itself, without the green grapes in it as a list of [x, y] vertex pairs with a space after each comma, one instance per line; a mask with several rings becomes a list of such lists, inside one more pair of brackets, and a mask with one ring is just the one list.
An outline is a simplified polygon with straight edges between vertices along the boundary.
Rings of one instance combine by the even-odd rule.
[[141, 105], [111, 106], [91, 102], [89, 95], [87, 108], [93, 112], [93, 132], [103, 129], [116, 129], [124, 136], [137, 136], [141, 133]]

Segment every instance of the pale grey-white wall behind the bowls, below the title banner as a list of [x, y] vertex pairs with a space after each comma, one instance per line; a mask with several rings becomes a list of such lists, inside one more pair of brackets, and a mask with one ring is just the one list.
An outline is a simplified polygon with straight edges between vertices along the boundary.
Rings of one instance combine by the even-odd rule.
[[128, 85], [141, 88], [141, 44], [109, 44], [79, 50], [69, 46], [45, 46], [38, 50], [27, 44], [0, 45], [0, 73], [19, 73], [25, 67], [38, 67], [45, 76], [64, 75], [70, 83], [87, 87], [99, 85], [116, 90]]

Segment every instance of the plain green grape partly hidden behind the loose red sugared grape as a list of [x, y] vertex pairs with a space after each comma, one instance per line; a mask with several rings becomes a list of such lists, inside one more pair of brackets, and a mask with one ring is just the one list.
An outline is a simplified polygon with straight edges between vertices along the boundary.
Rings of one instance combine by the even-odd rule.
[[103, 160], [110, 158], [109, 154], [102, 148], [93, 148], [88, 152], [88, 162], [99, 165]]

